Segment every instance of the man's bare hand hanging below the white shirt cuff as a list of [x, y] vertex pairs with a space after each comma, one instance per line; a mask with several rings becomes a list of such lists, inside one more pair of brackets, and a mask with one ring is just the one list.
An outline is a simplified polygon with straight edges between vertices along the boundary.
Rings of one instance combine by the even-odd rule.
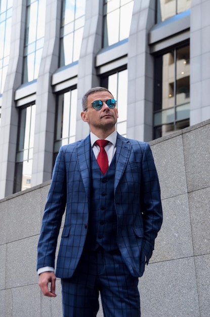
[[[49, 283], [51, 283], [50, 289], [48, 288]], [[41, 273], [38, 285], [45, 296], [56, 297], [56, 275], [54, 272]]]

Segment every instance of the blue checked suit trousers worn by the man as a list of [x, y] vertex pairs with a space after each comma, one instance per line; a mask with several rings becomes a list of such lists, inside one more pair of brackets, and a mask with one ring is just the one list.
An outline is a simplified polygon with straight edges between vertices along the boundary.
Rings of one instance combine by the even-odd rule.
[[63, 317], [96, 317], [99, 292], [104, 317], [140, 317], [138, 278], [119, 251], [84, 251], [70, 279], [62, 279]]

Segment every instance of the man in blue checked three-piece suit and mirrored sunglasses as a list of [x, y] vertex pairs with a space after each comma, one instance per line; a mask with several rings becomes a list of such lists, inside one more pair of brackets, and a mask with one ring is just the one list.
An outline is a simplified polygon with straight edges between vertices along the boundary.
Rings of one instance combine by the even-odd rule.
[[[61, 278], [64, 317], [96, 316], [99, 292], [104, 316], [141, 315], [138, 278], [162, 224], [160, 188], [149, 144], [120, 136], [117, 117], [110, 91], [90, 89], [82, 98], [81, 118], [91, 133], [62, 146], [53, 170], [37, 271], [46, 296], [56, 296], [56, 276]], [[97, 140], [107, 140], [105, 171], [97, 163]]]

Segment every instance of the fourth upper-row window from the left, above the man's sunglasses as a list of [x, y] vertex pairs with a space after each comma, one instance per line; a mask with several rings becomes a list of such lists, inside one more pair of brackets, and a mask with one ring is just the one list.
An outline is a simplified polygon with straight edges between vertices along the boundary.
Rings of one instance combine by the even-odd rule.
[[133, 0], [104, 0], [103, 47], [129, 37], [133, 6]]

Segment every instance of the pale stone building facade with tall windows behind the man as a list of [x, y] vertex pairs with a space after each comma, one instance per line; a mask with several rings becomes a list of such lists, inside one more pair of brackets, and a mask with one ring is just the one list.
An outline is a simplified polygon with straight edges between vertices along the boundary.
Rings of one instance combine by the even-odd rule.
[[51, 179], [104, 86], [117, 131], [150, 141], [210, 118], [209, 0], [1, 0], [0, 198]]

